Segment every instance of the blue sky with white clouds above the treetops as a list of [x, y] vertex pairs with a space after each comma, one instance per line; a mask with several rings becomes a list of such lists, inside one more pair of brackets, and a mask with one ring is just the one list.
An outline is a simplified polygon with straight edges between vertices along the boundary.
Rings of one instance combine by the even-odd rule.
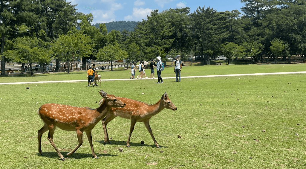
[[[94, 16], [92, 24], [106, 23], [112, 21], [142, 21], [154, 9], [159, 12], [170, 8], [190, 7], [190, 12], [205, 6], [217, 11], [231, 11], [244, 6], [240, 0], [66, 0], [71, 4], [78, 4], [78, 12], [91, 13]], [[85, 7], [85, 8], [84, 8]], [[87, 8], [87, 9], [86, 9]], [[91, 9], [91, 10], [90, 10]]]

